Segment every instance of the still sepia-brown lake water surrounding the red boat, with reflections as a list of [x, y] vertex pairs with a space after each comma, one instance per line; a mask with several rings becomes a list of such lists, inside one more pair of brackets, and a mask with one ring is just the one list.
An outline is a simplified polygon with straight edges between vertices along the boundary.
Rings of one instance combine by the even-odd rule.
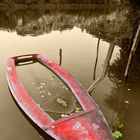
[[[139, 15], [137, 9], [130, 7], [79, 11], [0, 10], [0, 139], [50, 139], [44, 136], [15, 104], [6, 82], [6, 59], [15, 55], [41, 53], [59, 64], [59, 51], [62, 49], [62, 67], [86, 89], [103, 75], [102, 80], [95, 85], [91, 96], [99, 105], [112, 131], [118, 130], [118, 124], [123, 124], [123, 127], [119, 128], [122, 133], [120, 139], [139, 140], [139, 47], [130, 67], [128, 81], [124, 81], [124, 72]], [[112, 42], [115, 43], [113, 52], [110, 47]], [[30, 68], [37, 73], [30, 73]], [[31, 87], [37, 82], [36, 89], [41, 86], [40, 83], [46, 82], [43, 78], [47, 74], [38, 64], [17, 69], [28, 90], [32, 90]], [[40, 79], [36, 76], [40, 76]], [[51, 90], [55, 92], [55, 89], [59, 88], [61, 93], [64, 87], [63, 85], [60, 87], [60, 81], [51, 80], [51, 82]], [[64, 91], [68, 92], [66, 87]], [[70, 104], [68, 110], [65, 110], [67, 113], [75, 108], [75, 99], [69, 97], [66, 100]], [[50, 102], [50, 106], [53, 103], [56, 104], [53, 101]], [[56, 109], [56, 106], [55, 110], [54, 108], [51, 110], [54, 112], [53, 116], [59, 118], [55, 113], [65, 112], [60, 112], [62, 109]]]

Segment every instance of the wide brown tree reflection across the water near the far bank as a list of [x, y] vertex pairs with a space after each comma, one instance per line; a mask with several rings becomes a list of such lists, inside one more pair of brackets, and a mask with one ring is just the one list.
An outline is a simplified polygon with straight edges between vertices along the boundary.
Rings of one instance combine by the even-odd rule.
[[[73, 27], [86, 30], [108, 42], [116, 41], [119, 46], [124, 39], [133, 36], [133, 22], [138, 18], [131, 17], [132, 9], [124, 7], [95, 7], [89, 10], [0, 10], [0, 27], [3, 30], [13, 30], [17, 34], [41, 35], [53, 30], [66, 30]], [[134, 13], [134, 12], [133, 12]]]

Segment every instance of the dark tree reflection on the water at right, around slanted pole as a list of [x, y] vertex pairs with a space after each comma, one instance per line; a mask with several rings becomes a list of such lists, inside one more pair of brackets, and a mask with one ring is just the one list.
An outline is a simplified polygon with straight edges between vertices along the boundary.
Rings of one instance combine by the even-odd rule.
[[140, 118], [140, 50], [138, 47], [130, 66], [128, 81], [125, 81], [124, 73], [130, 48], [128, 48], [129, 40], [123, 40], [123, 42], [125, 42], [125, 45], [120, 48], [119, 57], [108, 68], [107, 76], [113, 82], [113, 87], [111, 93], [105, 99], [105, 104], [115, 114], [111, 126], [114, 127], [120, 122], [124, 125], [122, 139], [138, 139], [140, 130], [137, 124]]

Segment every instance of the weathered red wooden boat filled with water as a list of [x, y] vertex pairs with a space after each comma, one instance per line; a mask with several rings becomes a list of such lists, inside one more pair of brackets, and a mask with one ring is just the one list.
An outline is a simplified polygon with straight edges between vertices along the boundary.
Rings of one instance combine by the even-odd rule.
[[[38, 61], [55, 73], [71, 90], [83, 111], [59, 120], [53, 120], [29, 96], [16, 73], [16, 64]], [[40, 54], [10, 57], [6, 76], [11, 93], [27, 116], [45, 133], [56, 140], [113, 140], [111, 131], [99, 107], [84, 87], [55, 62]], [[56, 91], [57, 92], [57, 91]]]

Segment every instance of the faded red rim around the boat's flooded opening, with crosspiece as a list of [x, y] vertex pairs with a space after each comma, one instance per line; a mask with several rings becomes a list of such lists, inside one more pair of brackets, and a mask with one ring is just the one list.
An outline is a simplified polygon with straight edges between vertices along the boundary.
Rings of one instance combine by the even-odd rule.
[[[79, 113], [74, 113], [72, 115], [69, 115], [68, 117], [61, 118], [59, 120], [54, 121], [41, 107], [39, 107], [36, 104], [36, 102], [29, 96], [28, 92], [24, 89], [16, 73], [15, 60], [17, 60], [18, 58], [28, 57], [28, 56], [32, 56], [33, 58], [36, 58], [38, 62], [43, 63], [48, 69], [54, 72], [58, 76], [58, 78], [60, 78], [75, 95], [76, 99], [82, 106], [83, 111]], [[48, 58], [43, 57], [40, 54], [27, 54], [27, 55], [10, 57], [7, 60], [6, 78], [11, 93], [14, 96], [15, 100], [17, 101], [18, 105], [21, 107], [21, 109], [27, 114], [28, 117], [30, 117], [30, 119], [35, 124], [37, 124], [44, 132], [48, 133], [53, 138], [56, 139], [60, 138], [58, 135], [55, 135], [54, 133], [55, 130], [53, 131], [53, 126], [59, 125], [60, 123], [63, 122], [65, 123], [67, 120], [72, 120], [78, 116], [80, 117], [84, 114], [88, 114], [89, 112], [98, 112], [98, 117], [99, 116], [101, 117], [101, 118], [99, 117], [98, 119], [101, 119], [102, 123], [106, 125], [106, 129], [109, 132], [109, 127], [106, 123], [106, 120], [102, 112], [100, 111], [100, 109], [98, 108], [94, 100], [92, 99], [92, 97], [88, 94], [88, 92], [84, 89], [84, 87], [80, 84], [80, 82], [75, 80], [70, 73], [68, 73], [66, 70], [64, 70], [62, 67], [60, 67], [52, 60], [49, 60]], [[17, 95], [18, 96], [22, 95], [22, 96], [18, 97]], [[32, 112], [32, 107], [34, 108], [33, 112]]]

